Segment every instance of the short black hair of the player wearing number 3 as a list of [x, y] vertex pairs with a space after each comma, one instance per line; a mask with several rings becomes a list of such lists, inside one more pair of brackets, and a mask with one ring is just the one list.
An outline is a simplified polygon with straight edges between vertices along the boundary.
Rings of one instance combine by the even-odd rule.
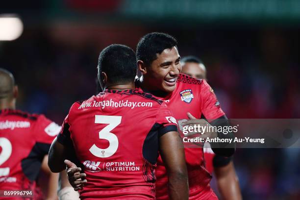
[[98, 79], [102, 72], [110, 83], [128, 83], [134, 81], [137, 65], [134, 51], [119, 44], [113, 44], [100, 52], [98, 59]]

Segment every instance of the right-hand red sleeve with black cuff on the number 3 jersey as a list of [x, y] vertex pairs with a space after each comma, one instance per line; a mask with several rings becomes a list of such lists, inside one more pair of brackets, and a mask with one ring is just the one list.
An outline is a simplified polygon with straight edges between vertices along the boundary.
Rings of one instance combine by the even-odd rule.
[[163, 102], [160, 108], [158, 109], [156, 123], [161, 125], [158, 130], [159, 137], [161, 137], [167, 132], [177, 131], [176, 119], [171, 110], [167, 107], [167, 104], [165, 102]]

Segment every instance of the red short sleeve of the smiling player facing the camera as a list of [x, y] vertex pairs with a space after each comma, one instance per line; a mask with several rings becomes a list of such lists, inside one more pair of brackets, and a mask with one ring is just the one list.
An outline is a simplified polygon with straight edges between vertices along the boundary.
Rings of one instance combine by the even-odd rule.
[[201, 83], [201, 111], [205, 119], [211, 122], [219, 117], [225, 115], [220, 107], [220, 103], [214, 93], [214, 90], [203, 79]]

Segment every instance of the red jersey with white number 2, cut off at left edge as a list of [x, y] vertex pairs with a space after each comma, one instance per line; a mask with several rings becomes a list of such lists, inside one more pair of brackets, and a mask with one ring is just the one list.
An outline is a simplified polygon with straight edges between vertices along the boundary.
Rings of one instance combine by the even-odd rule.
[[[31, 190], [34, 193], [41, 163], [59, 130], [60, 126], [44, 115], [0, 110], [1, 190]], [[33, 199], [37, 199], [36, 194]]]

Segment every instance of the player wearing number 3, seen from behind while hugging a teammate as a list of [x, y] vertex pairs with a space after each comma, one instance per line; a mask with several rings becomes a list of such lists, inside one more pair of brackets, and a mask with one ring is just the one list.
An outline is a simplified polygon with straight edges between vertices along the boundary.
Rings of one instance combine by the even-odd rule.
[[154, 200], [159, 150], [169, 198], [187, 200], [185, 156], [175, 118], [163, 101], [135, 89], [135, 75], [133, 50], [111, 45], [101, 51], [98, 78], [103, 92], [72, 105], [50, 148], [50, 169], [65, 168], [74, 144], [87, 179], [81, 199]]

